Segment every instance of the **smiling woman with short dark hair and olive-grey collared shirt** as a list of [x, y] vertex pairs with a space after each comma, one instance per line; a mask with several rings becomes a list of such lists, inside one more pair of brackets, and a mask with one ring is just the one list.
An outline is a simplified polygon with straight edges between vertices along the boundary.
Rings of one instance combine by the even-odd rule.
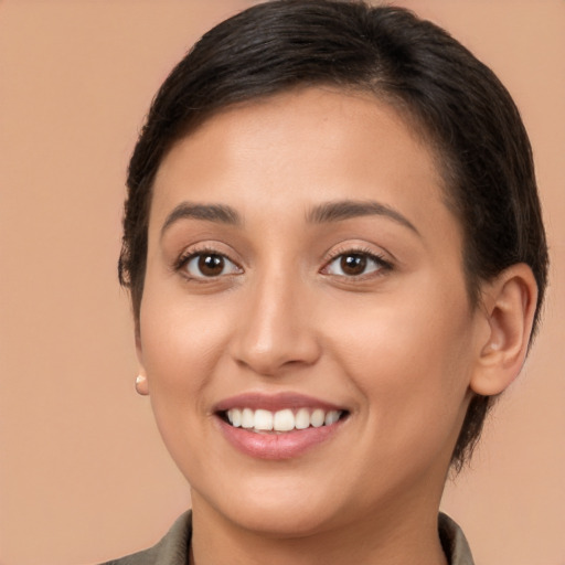
[[494, 75], [398, 8], [259, 4], [173, 70], [128, 188], [137, 390], [193, 505], [113, 563], [471, 564], [445, 478], [547, 268]]

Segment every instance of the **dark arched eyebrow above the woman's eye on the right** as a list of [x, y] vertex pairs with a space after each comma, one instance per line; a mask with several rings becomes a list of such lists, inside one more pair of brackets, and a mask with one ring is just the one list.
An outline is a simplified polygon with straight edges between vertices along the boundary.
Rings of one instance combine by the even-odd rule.
[[385, 216], [394, 222], [412, 230], [417, 235], [420, 235], [416, 226], [397, 210], [381, 204], [372, 200], [339, 200], [335, 202], [326, 202], [319, 206], [313, 207], [307, 215], [308, 222], [315, 224], [323, 224], [327, 222], [341, 222], [359, 216], [379, 215]]

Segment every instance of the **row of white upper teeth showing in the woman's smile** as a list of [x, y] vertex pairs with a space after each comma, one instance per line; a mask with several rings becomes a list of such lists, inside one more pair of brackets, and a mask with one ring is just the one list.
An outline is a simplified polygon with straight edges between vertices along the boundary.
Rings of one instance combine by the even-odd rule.
[[230, 424], [235, 428], [243, 427], [255, 431], [290, 431], [310, 426], [315, 428], [323, 425], [331, 426], [340, 419], [341, 414], [341, 411], [324, 412], [321, 408], [312, 412], [308, 408], [299, 408], [296, 414], [290, 408], [275, 413], [265, 409], [231, 408], [226, 415]]

